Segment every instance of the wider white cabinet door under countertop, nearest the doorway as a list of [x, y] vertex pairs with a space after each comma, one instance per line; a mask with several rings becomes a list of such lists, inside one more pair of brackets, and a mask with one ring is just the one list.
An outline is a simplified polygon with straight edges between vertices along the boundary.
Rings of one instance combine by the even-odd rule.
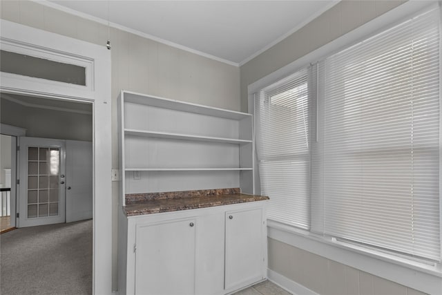
[[137, 225], [135, 294], [195, 294], [195, 219]]

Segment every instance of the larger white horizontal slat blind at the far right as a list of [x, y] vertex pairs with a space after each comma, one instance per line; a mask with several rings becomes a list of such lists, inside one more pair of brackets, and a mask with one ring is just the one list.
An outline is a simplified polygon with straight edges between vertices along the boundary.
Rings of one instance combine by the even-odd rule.
[[320, 61], [324, 233], [440, 260], [439, 10]]

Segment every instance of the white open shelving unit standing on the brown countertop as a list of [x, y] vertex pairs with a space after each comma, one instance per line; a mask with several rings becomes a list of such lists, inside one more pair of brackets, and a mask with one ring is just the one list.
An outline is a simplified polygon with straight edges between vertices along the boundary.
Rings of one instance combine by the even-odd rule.
[[118, 120], [122, 204], [126, 193], [253, 193], [250, 114], [122, 91]]

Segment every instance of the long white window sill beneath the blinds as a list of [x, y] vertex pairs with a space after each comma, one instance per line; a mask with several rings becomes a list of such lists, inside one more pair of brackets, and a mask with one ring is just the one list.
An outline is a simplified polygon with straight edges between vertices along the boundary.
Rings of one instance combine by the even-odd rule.
[[442, 265], [427, 264], [359, 247], [267, 220], [268, 236], [293, 247], [428, 294], [440, 294]]

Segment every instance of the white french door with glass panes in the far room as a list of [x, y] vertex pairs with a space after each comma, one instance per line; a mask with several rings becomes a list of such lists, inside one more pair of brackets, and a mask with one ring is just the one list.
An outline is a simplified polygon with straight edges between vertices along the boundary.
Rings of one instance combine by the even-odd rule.
[[18, 227], [65, 222], [64, 140], [20, 137]]

